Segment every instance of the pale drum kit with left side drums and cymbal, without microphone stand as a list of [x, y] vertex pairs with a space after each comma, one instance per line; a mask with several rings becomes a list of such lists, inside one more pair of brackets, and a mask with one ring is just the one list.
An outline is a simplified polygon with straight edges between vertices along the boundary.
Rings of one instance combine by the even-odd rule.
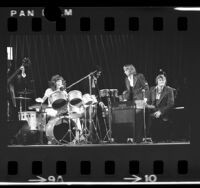
[[37, 103], [29, 106], [29, 111], [22, 111], [21, 101], [31, 98], [19, 96], [16, 99], [20, 100], [19, 120], [26, 120], [30, 131], [44, 132], [48, 144], [88, 143], [86, 122], [96, 115], [95, 95], [72, 90], [66, 98], [62, 91], [56, 91], [49, 97], [52, 107]]

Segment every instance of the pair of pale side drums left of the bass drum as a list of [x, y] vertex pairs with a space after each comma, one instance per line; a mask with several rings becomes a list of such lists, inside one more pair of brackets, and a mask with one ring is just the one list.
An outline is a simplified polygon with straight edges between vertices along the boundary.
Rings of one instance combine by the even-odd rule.
[[19, 120], [26, 120], [28, 122], [30, 130], [45, 130], [46, 125], [46, 113], [45, 112], [35, 112], [35, 111], [25, 111], [18, 113]]

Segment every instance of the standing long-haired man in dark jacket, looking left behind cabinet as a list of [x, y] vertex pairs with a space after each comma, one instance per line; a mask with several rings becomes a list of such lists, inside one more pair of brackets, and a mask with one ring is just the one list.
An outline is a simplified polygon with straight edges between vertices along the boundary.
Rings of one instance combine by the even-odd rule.
[[137, 104], [143, 103], [144, 98], [147, 97], [149, 86], [144, 75], [137, 73], [132, 64], [124, 65], [123, 69], [127, 76], [125, 78], [126, 91], [124, 92], [124, 98], [136, 104], [134, 141], [140, 143], [144, 138], [144, 117], [142, 107]]

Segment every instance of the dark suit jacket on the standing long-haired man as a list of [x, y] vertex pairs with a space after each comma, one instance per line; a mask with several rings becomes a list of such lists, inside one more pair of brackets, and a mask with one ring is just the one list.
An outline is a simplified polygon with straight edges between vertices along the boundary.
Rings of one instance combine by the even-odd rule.
[[143, 92], [142, 90], [145, 89], [145, 96], [149, 91], [149, 86], [143, 74], [136, 74], [134, 76], [133, 88], [130, 86], [130, 81], [128, 77], [125, 78], [125, 85], [127, 90], [127, 99], [128, 100], [142, 100], [143, 99]]

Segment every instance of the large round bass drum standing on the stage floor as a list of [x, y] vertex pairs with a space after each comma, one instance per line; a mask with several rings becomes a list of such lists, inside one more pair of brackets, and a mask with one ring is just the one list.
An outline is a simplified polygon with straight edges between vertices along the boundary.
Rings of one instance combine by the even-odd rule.
[[[71, 126], [70, 134], [67, 133]], [[69, 118], [56, 117], [51, 119], [46, 125], [46, 136], [50, 144], [62, 144], [71, 142], [75, 137], [76, 123]], [[61, 141], [62, 140], [62, 141]]]

